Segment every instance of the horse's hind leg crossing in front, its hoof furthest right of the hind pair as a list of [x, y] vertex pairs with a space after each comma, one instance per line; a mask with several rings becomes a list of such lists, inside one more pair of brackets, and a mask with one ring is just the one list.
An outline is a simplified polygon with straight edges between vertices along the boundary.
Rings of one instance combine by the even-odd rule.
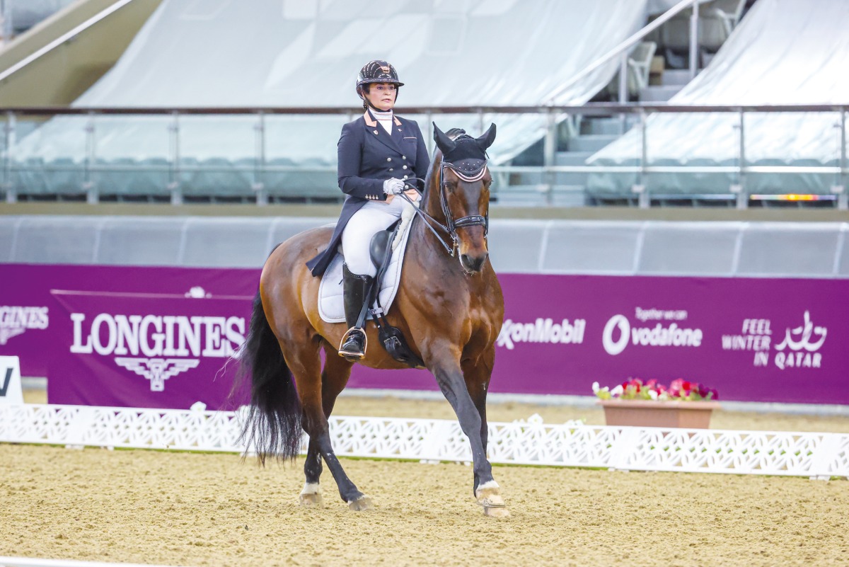
[[[307, 449], [308, 464], [305, 464], [305, 472], [307, 467], [310, 467], [313, 474], [312, 479], [316, 480], [315, 484], [318, 484], [318, 474], [320, 474], [321, 469], [314, 466], [318, 463], [318, 457], [315, 454], [315, 452], [318, 452], [330, 469], [330, 474], [333, 474], [342, 500], [348, 502], [348, 506], [352, 510], [371, 508], [371, 500], [363, 492], [358, 491], [357, 486], [345, 474], [345, 470], [342, 469], [339, 459], [336, 458], [330, 442], [329, 424], [323, 408], [321, 358], [318, 356], [318, 345], [311, 344], [309, 347], [301, 345], [300, 348], [284, 349], [284, 352], [287, 352], [286, 362], [295, 377], [295, 386], [298, 390], [298, 398], [301, 401], [301, 424], [306, 435], [310, 436], [310, 446], [313, 448], [312, 455]], [[336, 392], [336, 395], [338, 395], [338, 392]], [[336, 395], [332, 396], [334, 401]], [[306, 488], [305, 486], [305, 490]]]

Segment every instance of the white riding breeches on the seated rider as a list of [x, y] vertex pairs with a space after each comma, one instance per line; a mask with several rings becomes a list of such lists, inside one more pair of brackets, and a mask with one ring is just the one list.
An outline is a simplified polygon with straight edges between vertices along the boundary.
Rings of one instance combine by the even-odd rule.
[[368, 254], [371, 237], [401, 218], [406, 204], [407, 201], [399, 196], [388, 205], [385, 201], [369, 201], [351, 216], [342, 231], [342, 253], [351, 273], [360, 276], [377, 275], [377, 268]]

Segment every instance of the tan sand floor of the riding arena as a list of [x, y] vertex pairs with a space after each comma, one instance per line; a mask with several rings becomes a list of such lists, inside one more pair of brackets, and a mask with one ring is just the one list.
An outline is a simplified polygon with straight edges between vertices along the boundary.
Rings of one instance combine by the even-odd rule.
[[[28, 394], [29, 401], [39, 401]], [[339, 413], [450, 418], [447, 402], [340, 398]], [[493, 421], [599, 410], [493, 404]], [[715, 427], [846, 431], [845, 418], [718, 413]], [[762, 427], [759, 427], [762, 426]], [[329, 475], [235, 455], [0, 444], [0, 555], [171, 565], [836, 565], [849, 482], [496, 466], [512, 513], [481, 514], [471, 469], [343, 459], [374, 510]]]

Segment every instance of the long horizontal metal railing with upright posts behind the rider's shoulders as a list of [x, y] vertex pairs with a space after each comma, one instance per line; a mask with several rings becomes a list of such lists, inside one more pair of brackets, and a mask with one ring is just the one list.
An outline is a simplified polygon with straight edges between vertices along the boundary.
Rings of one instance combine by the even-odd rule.
[[[476, 115], [480, 125], [484, 124], [487, 115], [542, 115], [548, 124], [546, 135], [547, 150], [544, 152], [543, 166], [492, 166], [492, 171], [497, 174], [510, 173], [542, 173], [543, 186], [539, 188], [540, 194], [548, 195], [551, 202], [551, 194], [554, 189], [554, 175], [557, 173], [621, 173], [635, 174], [637, 182], [631, 187], [632, 196], [638, 199], [638, 205], [649, 207], [651, 194], [647, 184], [647, 177], [655, 173], [724, 173], [734, 177], [734, 182], [729, 185], [729, 194], [734, 195], [736, 205], [739, 208], [748, 206], [750, 194], [746, 189], [745, 179], [747, 175], [756, 173], [812, 173], [833, 175], [834, 184], [830, 188], [830, 199], [837, 201], [840, 209], [847, 208], [846, 183], [849, 179], [849, 162], [846, 157], [846, 111], [849, 104], [783, 104], [783, 105], [745, 105], [745, 106], [680, 106], [670, 104], [584, 104], [578, 106], [452, 106], [452, 107], [404, 107], [399, 113], [404, 115], [424, 116], [428, 128], [430, 123], [438, 115]], [[256, 119], [254, 164], [249, 169], [252, 177], [252, 188], [256, 194], [256, 203], [263, 205], [267, 203], [267, 192], [263, 186], [263, 174], [269, 171], [296, 171], [296, 172], [333, 172], [333, 166], [275, 166], [267, 163], [267, 127], [266, 121], [273, 115], [339, 115], [346, 120], [352, 120], [359, 115], [362, 109], [351, 107], [297, 107], [297, 108], [8, 108], [0, 109], [0, 113], [6, 116], [4, 127], [4, 151], [3, 151], [3, 189], [6, 193], [7, 202], [14, 202], [18, 198], [18, 188], [12, 184], [12, 172], [14, 168], [20, 167], [14, 162], [14, 146], [17, 143], [17, 123], [22, 117], [32, 117], [44, 120], [45, 118], [59, 115], [86, 116], [84, 126], [86, 137], [86, 157], [81, 164], [82, 189], [87, 193], [89, 202], [98, 201], [98, 188], [93, 183], [93, 176], [104, 169], [97, 162], [96, 135], [98, 116], [115, 115], [146, 115], [166, 116], [169, 118], [168, 135], [170, 148], [168, 149], [167, 164], [161, 166], [168, 173], [168, 187], [171, 194], [171, 202], [178, 204], [183, 202], [180, 187], [180, 174], [185, 170], [181, 164], [181, 118], [196, 115], [250, 115]], [[747, 165], [745, 151], [745, 116], [752, 113], [835, 113], [837, 120], [833, 123], [833, 129], [839, 131], [840, 151], [835, 166], [754, 166]], [[723, 113], [739, 116], [737, 125], [737, 156], [734, 166], [652, 166], [648, 156], [648, 140], [650, 128], [647, 128], [647, 119], [650, 115], [661, 115], [669, 113]], [[641, 132], [640, 159], [633, 166], [558, 166], [555, 163], [556, 155], [550, 151], [554, 147], [557, 138], [557, 127], [561, 120], [574, 119], [577, 116], [616, 116], [636, 115], [638, 116]], [[482, 127], [481, 127], [482, 129]], [[833, 135], [831, 132], [830, 135]], [[734, 134], [732, 134], [734, 135]], [[823, 132], [824, 137], [829, 132]], [[432, 132], [428, 132], [427, 139], [432, 144]], [[432, 145], [431, 148], [432, 149]], [[498, 156], [496, 156], [497, 158]], [[776, 156], [780, 157], [780, 156]], [[127, 166], [127, 169], [138, 169], [137, 166]], [[114, 169], [109, 166], [106, 169]], [[245, 171], [243, 169], [243, 171]]]

